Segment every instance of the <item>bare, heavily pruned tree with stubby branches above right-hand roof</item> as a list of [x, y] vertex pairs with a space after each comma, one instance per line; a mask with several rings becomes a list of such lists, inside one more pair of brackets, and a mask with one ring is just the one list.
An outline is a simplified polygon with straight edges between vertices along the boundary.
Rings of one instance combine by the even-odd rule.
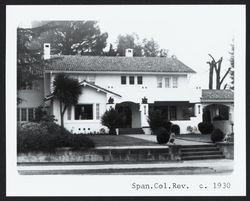
[[213, 71], [215, 70], [216, 73], [216, 89], [220, 89], [223, 81], [225, 80], [226, 76], [230, 72], [230, 67], [224, 74], [224, 76], [221, 78], [220, 73], [221, 73], [221, 63], [223, 60], [223, 57], [221, 57], [218, 61], [215, 61], [213, 56], [211, 54], [208, 54], [211, 58], [212, 61], [208, 61], [207, 63], [209, 64], [209, 89], [213, 89]]

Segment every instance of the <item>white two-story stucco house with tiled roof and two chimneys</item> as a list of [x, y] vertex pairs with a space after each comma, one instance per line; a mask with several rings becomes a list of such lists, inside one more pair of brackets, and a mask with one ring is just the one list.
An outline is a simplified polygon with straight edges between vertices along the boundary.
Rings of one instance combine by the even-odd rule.
[[34, 108], [46, 97], [46, 105], [60, 124], [59, 103], [51, 96], [58, 73], [78, 79], [82, 86], [78, 103], [64, 115], [65, 127], [73, 133], [105, 128], [101, 116], [110, 107], [126, 116], [124, 127], [143, 128], [145, 133], [149, 133], [150, 109], [161, 110], [180, 126], [181, 133], [202, 121], [201, 89], [190, 85], [195, 71], [176, 58], [133, 57], [132, 49], [126, 50], [125, 57], [50, 56], [50, 45], [44, 48], [44, 58], [49, 59], [44, 77], [37, 83], [39, 90], [21, 91], [24, 101], [18, 105], [19, 121], [31, 119]]

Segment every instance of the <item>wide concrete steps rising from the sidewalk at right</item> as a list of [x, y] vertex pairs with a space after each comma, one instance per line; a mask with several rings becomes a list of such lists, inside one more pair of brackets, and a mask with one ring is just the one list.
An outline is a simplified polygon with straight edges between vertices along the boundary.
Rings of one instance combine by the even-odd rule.
[[181, 146], [181, 160], [205, 160], [225, 158], [222, 151], [214, 144]]

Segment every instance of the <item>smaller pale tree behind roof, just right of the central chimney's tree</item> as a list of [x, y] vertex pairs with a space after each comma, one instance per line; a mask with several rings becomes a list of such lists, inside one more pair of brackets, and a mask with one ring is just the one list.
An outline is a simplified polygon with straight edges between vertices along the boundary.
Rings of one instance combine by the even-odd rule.
[[158, 43], [153, 39], [143, 39], [143, 51], [144, 51], [144, 56], [146, 57], [156, 57], [159, 55], [160, 50], [159, 50], [159, 45]]

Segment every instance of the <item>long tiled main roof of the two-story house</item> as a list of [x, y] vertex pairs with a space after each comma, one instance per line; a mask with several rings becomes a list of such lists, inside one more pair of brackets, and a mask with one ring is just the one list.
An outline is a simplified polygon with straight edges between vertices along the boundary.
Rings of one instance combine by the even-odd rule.
[[175, 58], [79, 55], [53, 56], [51, 62], [45, 66], [45, 70], [196, 73], [193, 69]]

